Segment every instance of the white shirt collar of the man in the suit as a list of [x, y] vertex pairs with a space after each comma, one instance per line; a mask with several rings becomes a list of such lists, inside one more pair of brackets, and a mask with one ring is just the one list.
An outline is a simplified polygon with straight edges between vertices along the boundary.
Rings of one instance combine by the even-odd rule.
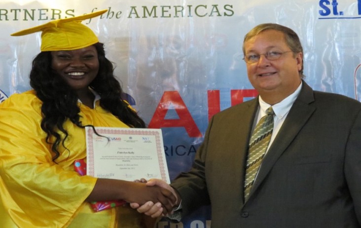
[[[298, 94], [301, 92], [301, 88], [302, 88], [302, 81], [292, 94], [290, 94], [288, 97], [283, 99], [281, 102], [272, 106], [273, 112], [279, 119], [282, 119], [285, 115], [289, 113], [289, 110], [291, 109], [294, 101], [297, 99]], [[271, 105], [264, 102], [261, 96], [259, 96], [258, 101], [259, 101], [261, 116], [263, 116], [266, 114], [266, 110], [269, 107], [271, 107]]]

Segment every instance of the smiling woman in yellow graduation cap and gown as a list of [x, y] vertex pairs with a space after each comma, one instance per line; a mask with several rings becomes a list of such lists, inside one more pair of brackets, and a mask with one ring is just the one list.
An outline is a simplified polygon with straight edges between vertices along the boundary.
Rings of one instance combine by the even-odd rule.
[[33, 90], [0, 105], [0, 217], [6, 227], [151, 227], [152, 219], [129, 206], [94, 212], [89, 202], [151, 200], [172, 207], [167, 190], [74, 171], [74, 161], [86, 158], [85, 126], [145, 127], [120, 99], [103, 44], [80, 23], [106, 11], [13, 34], [42, 31], [42, 41], [30, 73]]

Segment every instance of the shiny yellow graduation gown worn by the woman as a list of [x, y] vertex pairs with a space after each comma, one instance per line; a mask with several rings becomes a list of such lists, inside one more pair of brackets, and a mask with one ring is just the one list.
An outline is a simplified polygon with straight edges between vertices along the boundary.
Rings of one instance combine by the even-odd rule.
[[[80, 104], [83, 125], [128, 127], [99, 106]], [[146, 227], [129, 206], [94, 212], [84, 202], [96, 178], [79, 176], [75, 159], [86, 158], [85, 130], [66, 121], [70, 137], [56, 162], [40, 127], [35, 91], [14, 94], [0, 104], [0, 223], [4, 228]]]

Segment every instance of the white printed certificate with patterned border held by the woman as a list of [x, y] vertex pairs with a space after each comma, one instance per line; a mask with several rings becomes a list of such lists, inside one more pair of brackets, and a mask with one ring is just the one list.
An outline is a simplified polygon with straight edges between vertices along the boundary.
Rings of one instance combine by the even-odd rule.
[[[87, 175], [170, 183], [161, 129], [85, 127]], [[97, 133], [97, 134], [96, 134]]]

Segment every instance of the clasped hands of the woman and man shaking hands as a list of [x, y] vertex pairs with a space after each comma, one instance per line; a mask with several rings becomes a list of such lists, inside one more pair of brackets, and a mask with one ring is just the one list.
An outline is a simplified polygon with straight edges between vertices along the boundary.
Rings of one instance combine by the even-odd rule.
[[173, 213], [173, 209], [180, 204], [180, 195], [177, 190], [160, 179], [145, 179], [137, 180], [136, 183], [145, 183], [145, 189], [142, 190], [141, 195], [134, 195], [138, 197], [137, 200], [130, 200], [130, 206], [137, 209], [139, 213], [156, 218], [159, 216], [166, 216]]

